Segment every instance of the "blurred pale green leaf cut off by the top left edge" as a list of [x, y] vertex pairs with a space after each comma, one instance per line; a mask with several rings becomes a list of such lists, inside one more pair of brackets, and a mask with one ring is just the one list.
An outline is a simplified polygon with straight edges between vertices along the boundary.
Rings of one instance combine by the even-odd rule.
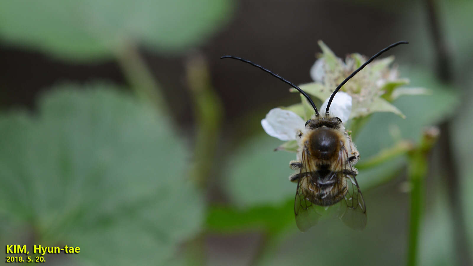
[[231, 0], [1, 1], [0, 38], [74, 60], [111, 56], [129, 41], [175, 52], [209, 37], [231, 8]]

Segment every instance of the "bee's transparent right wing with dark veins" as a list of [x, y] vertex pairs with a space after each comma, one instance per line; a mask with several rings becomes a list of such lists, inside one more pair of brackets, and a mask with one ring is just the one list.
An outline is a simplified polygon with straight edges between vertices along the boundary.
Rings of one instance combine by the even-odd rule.
[[339, 162], [345, 169], [343, 175], [345, 177], [348, 192], [345, 198], [339, 204], [339, 217], [349, 227], [357, 230], [363, 230], [366, 227], [366, 205], [358, 182], [355, 178], [355, 172], [348, 160], [348, 152], [342, 149], [339, 156]]

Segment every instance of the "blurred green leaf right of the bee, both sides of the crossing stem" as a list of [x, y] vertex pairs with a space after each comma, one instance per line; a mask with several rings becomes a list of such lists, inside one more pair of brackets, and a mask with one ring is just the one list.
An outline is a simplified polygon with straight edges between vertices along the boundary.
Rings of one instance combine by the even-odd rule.
[[[457, 95], [452, 88], [427, 72], [418, 69], [412, 69], [410, 72], [412, 84], [431, 88], [431, 96], [396, 99], [393, 104], [402, 110], [406, 115], [405, 119], [389, 113], [371, 114], [368, 123], [361, 128], [357, 138], [354, 139], [361, 156], [360, 165], [383, 149], [391, 148], [400, 140], [418, 142], [425, 126], [442, 121], [452, 109], [455, 109]], [[360, 169], [357, 180], [361, 191], [386, 183], [392, 179], [393, 174], [398, 175], [399, 169], [404, 165], [405, 158], [398, 157], [375, 168]]]

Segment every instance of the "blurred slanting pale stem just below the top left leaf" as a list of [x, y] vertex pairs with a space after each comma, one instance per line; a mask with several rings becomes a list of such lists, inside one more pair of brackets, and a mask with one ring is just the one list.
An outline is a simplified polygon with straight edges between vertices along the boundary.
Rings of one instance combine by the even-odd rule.
[[115, 57], [131, 89], [144, 102], [150, 103], [163, 114], [169, 113], [169, 106], [162, 95], [158, 81], [146, 66], [135, 44], [127, 43], [115, 50]]

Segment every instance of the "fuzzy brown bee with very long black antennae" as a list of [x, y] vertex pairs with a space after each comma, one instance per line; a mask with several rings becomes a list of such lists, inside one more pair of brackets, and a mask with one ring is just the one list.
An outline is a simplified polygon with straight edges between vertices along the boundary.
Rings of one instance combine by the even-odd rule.
[[[408, 42], [400, 41], [389, 45], [343, 80], [330, 96], [324, 114], [319, 114], [306, 92], [272, 71], [240, 57], [231, 55], [220, 57], [249, 63], [271, 74], [297, 89], [314, 108], [315, 114], [307, 120], [304, 129], [298, 131], [296, 136], [300, 160], [289, 163], [290, 168], [297, 170], [289, 180], [297, 182], [294, 214], [300, 231], [307, 231], [321, 216], [333, 213], [332, 210], [351, 228], [363, 230], [366, 227], [366, 204], [355, 178], [358, 170], [354, 168], [360, 158], [359, 152], [342, 120], [329, 114], [329, 108], [335, 94], [348, 80], [379, 55], [399, 44]], [[329, 211], [329, 207], [334, 205], [336, 207], [331, 207]]]

